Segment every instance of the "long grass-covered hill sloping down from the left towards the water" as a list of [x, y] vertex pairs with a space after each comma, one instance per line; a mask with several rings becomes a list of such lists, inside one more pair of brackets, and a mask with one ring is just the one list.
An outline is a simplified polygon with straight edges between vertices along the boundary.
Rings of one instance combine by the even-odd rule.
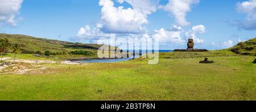
[[71, 52], [76, 50], [97, 50], [101, 45], [70, 43], [59, 40], [35, 38], [27, 35], [0, 34], [0, 38], [7, 38], [11, 44], [19, 44], [22, 53]]

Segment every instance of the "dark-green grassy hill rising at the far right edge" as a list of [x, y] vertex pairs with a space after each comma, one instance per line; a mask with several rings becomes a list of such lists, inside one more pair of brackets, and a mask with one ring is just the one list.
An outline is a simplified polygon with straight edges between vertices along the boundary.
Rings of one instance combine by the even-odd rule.
[[238, 43], [236, 46], [229, 48], [229, 50], [241, 55], [256, 56], [256, 38], [250, 39], [246, 42]]

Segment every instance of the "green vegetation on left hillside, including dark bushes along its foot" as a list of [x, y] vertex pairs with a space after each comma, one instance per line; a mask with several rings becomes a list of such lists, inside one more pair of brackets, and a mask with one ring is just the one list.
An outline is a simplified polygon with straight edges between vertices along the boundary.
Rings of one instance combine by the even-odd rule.
[[96, 58], [97, 49], [101, 47], [101, 45], [97, 44], [70, 43], [26, 35], [0, 34], [0, 39], [3, 42], [0, 43], [1, 55], [5, 55], [10, 49], [13, 50], [13, 48], [10, 48], [10, 45], [19, 45], [20, 52], [18, 53], [23, 54], [53, 55], [63, 59], [70, 59], [72, 57], [79, 59], [86, 57]]

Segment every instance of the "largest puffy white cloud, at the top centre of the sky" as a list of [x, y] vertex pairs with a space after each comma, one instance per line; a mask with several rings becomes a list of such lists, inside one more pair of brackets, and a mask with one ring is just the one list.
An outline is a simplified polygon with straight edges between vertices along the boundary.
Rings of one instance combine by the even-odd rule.
[[111, 0], [100, 0], [101, 30], [106, 33], [142, 34], [146, 31], [143, 24], [147, 24], [147, 16], [156, 11], [156, 6], [150, 0], [118, 0], [129, 3], [132, 7], [115, 7]]

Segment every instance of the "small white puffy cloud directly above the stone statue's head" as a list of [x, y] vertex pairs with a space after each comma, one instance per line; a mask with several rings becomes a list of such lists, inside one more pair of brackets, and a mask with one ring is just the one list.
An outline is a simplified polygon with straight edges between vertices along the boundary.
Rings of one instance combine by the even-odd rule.
[[205, 30], [206, 30], [205, 26], [200, 24], [198, 26], [193, 26], [192, 30], [187, 31], [185, 35], [187, 38], [193, 39], [195, 43], [204, 43], [204, 40], [197, 38], [196, 34], [197, 33], [204, 34]]

